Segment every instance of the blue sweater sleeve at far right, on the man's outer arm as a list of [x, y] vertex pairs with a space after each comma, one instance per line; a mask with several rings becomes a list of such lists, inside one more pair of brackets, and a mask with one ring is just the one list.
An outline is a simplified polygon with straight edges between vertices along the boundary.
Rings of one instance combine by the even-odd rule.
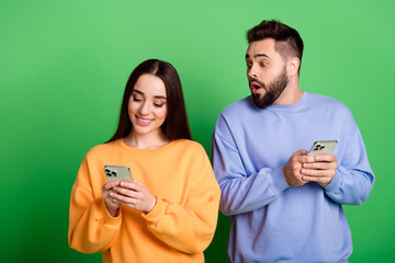
[[340, 205], [361, 205], [370, 195], [375, 178], [361, 133], [352, 116], [350, 118], [352, 127], [346, 142], [345, 156], [338, 163], [332, 181], [325, 187], [325, 193]]

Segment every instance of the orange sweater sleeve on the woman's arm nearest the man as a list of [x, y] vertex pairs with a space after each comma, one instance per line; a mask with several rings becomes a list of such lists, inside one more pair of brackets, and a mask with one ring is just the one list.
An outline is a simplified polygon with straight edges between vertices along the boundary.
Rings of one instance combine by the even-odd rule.
[[171, 248], [185, 253], [204, 251], [214, 237], [219, 187], [210, 160], [201, 147], [191, 160], [191, 186], [184, 205], [157, 197], [154, 209], [143, 217], [149, 231]]

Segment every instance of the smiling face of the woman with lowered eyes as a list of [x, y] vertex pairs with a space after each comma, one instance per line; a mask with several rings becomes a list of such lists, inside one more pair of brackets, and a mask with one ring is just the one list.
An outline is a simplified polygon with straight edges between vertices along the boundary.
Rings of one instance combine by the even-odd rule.
[[128, 101], [128, 115], [134, 133], [160, 135], [167, 117], [166, 87], [160, 78], [142, 75], [137, 79]]

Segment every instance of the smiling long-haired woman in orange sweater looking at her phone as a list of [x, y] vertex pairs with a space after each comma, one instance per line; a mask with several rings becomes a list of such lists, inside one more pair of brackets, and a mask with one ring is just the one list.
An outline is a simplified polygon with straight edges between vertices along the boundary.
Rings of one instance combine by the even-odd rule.
[[[108, 182], [124, 165], [133, 182]], [[219, 187], [191, 140], [181, 82], [150, 59], [131, 75], [114, 136], [93, 147], [72, 187], [68, 240], [103, 262], [204, 262], [217, 221]]]

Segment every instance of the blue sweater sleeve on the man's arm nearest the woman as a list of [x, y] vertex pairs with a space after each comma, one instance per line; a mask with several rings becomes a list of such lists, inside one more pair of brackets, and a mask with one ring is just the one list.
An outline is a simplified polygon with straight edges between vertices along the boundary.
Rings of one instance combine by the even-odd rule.
[[221, 187], [219, 209], [224, 215], [262, 208], [290, 186], [282, 167], [262, 168], [257, 173], [247, 174], [230, 129], [222, 116], [212, 138], [212, 160]]

